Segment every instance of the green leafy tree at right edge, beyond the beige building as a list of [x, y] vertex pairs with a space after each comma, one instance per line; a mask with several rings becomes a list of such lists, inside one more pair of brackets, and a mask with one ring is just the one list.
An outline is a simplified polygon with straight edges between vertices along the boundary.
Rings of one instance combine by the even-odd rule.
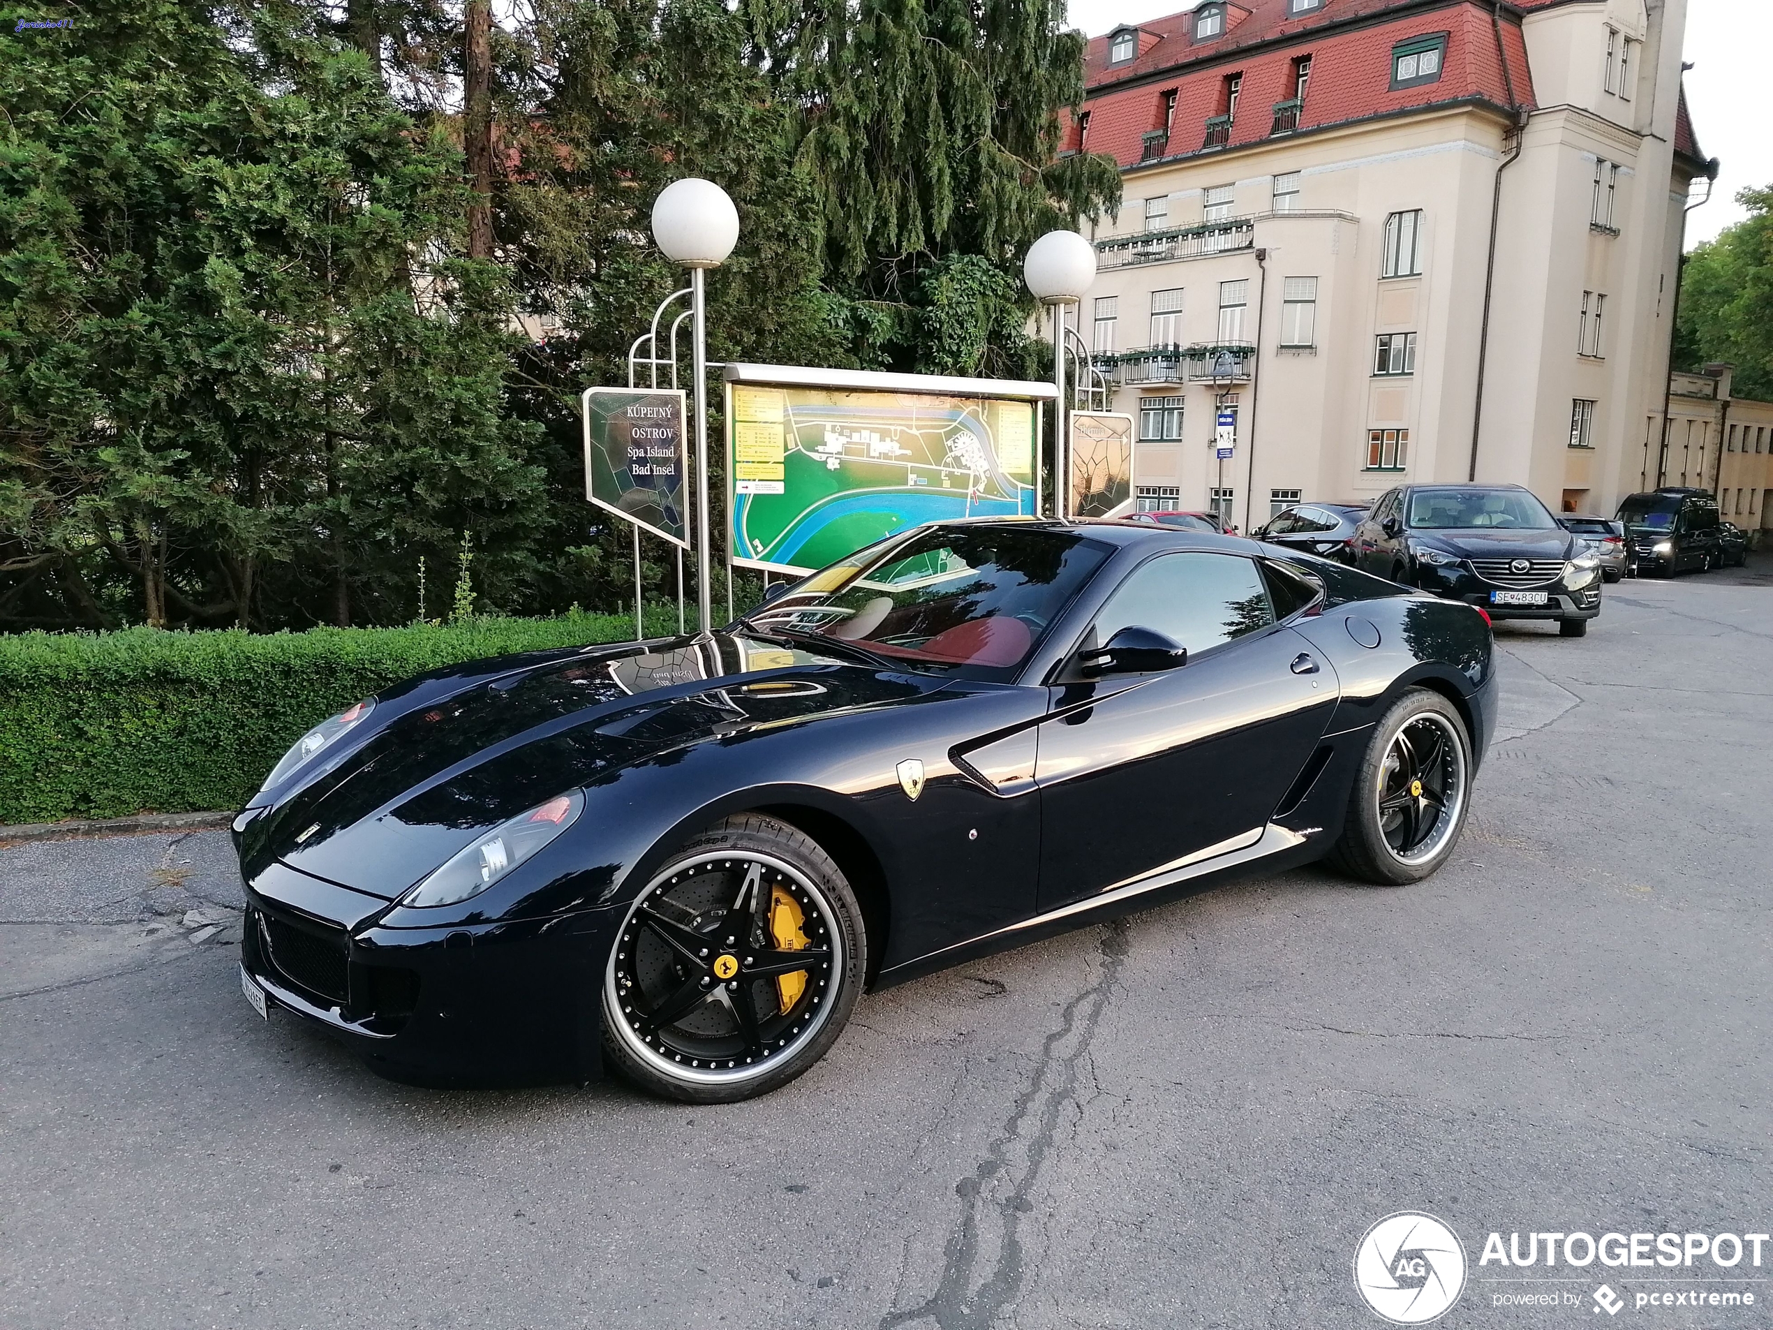
[[1773, 401], [1773, 186], [1736, 199], [1748, 218], [1683, 264], [1675, 365], [1727, 362], [1738, 397]]

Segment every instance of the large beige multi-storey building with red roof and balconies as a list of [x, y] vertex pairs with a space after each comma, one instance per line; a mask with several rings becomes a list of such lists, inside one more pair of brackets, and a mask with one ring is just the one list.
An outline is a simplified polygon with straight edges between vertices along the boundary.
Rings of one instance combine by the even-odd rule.
[[1597, 512], [1677, 484], [1656, 468], [1706, 174], [1684, 18], [1207, 0], [1092, 41], [1069, 147], [1115, 156], [1124, 202], [1094, 229], [1078, 323], [1135, 417], [1142, 505], [1248, 530], [1399, 481], [1514, 481]]

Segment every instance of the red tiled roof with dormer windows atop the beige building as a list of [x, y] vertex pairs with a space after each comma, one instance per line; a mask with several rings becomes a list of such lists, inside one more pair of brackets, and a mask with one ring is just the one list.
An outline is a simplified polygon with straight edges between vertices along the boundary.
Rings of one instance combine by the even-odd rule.
[[[1089, 151], [1110, 154], [1122, 167], [1138, 163], [1142, 137], [1161, 128], [1165, 94], [1172, 89], [1177, 99], [1167, 156], [1199, 151], [1206, 119], [1225, 110], [1225, 76], [1234, 73], [1243, 83], [1229, 145], [1261, 142], [1273, 128], [1275, 103], [1293, 98], [1293, 62], [1301, 55], [1310, 55], [1312, 73], [1300, 129], [1450, 101], [1511, 103], [1491, 11], [1472, 0], [1433, 9], [1420, 0], [1324, 0], [1323, 9], [1296, 20], [1287, 18], [1287, 0], [1245, 4], [1248, 18], [1216, 41], [1191, 39], [1191, 12], [1138, 25], [1161, 39], [1142, 39], [1145, 50], [1113, 69], [1106, 67], [1108, 37], [1094, 39], [1085, 53]], [[1388, 20], [1386, 11], [1402, 12]], [[1447, 34], [1441, 78], [1394, 92], [1392, 46], [1438, 32]], [[1514, 105], [1532, 106], [1519, 23], [1504, 18], [1502, 37]], [[1076, 131], [1069, 140], [1067, 147], [1078, 145]]]

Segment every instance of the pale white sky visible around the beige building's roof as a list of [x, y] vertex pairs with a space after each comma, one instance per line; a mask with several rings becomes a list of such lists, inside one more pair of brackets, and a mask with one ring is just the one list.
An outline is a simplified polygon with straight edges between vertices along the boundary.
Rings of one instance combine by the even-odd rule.
[[[1191, 7], [1190, 0], [1069, 0], [1067, 12], [1096, 37], [1117, 23], [1144, 23]], [[1700, 151], [1723, 167], [1711, 202], [1688, 216], [1688, 246], [1746, 216], [1736, 202], [1738, 190], [1773, 184], [1773, 131], [1761, 87], [1769, 46], [1773, 0], [1688, 0], [1684, 59], [1693, 69], [1686, 76], [1686, 105]]]

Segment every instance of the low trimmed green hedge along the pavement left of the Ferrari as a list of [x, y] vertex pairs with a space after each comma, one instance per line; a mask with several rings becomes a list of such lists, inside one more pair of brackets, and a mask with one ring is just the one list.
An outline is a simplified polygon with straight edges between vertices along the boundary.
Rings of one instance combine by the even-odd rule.
[[[677, 606], [649, 608], [649, 635]], [[254, 635], [0, 637], [0, 825], [238, 809], [310, 725], [482, 656], [621, 642], [633, 615]]]

